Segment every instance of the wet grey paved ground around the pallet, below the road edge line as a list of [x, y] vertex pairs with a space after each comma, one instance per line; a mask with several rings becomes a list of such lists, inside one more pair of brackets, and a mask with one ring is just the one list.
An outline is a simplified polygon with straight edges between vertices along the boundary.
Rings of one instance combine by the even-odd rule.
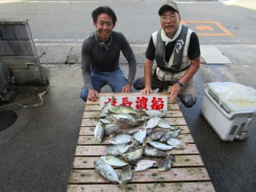
[[[146, 46], [132, 45], [138, 61], [136, 76], [143, 74]], [[36, 49], [50, 84], [19, 87], [16, 99], [0, 106], [17, 113], [16, 122], [0, 132], [0, 191], [67, 188], [85, 107], [79, 99], [81, 45], [37, 44]], [[216, 191], [255, 191], [256, 131], [244, 141], [221, 141], [200, 108], [205, 83], [232, 81], [256, 88], [256, 45], [202, 45], [201, 49], [202, 64], [195, 76], [198, 102], [189, 109], [181, 106], [182, 113]], [[123, 57], [120, 63], [127, 76]], [[102, 92], [110, 92], [109, 87]]]

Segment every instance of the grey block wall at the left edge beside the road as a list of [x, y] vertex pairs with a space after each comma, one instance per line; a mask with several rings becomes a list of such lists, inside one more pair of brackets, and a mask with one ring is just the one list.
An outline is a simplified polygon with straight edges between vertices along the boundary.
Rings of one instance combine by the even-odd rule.
[[48, 80], [41, 67], [28, 20], [0, 20], [0, 63], [7, 65], [16, 84], [45, 86]]

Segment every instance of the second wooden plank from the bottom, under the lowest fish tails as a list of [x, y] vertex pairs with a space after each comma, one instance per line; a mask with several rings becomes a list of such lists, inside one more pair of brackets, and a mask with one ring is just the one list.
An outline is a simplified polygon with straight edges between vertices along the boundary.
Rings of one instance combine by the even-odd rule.
[[[158, 168], [148, 169], [144, 172], [134, 172], [132, 175], [132, 182], [193, 182], [193, 181], [209, 181], [209, 175], [205, 168], [172, 168], [166, 172], [159, 172]], [[121, 170], [116, 170], [120, 175]], [[71, 170], [70, 183], [81, 184], [96, 184], [109, 183], [108, 180], [103, 179], [95, 170]]]

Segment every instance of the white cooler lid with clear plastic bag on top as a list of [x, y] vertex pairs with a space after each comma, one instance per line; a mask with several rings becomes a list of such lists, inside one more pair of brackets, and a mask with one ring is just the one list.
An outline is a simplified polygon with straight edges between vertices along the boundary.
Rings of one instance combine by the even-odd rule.
[[248, 114], [256, 113], [256, 90], [232, 82], [213, 82], [205, 84], [209, 88], [209, 95], [219, 102], [228, 113]]

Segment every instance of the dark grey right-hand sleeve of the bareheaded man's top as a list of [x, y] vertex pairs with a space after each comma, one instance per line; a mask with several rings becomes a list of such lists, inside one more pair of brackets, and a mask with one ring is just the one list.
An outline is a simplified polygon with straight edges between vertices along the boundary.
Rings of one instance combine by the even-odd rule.
[[122, 33], [120, 33], [120, 39], [122, 42], [121, 51], [124, 54], [126, 60], [128, 61], [128, 64], [129, 64], [129, 74], [128, 74], [127, 83], [132, 85], [134, 78], [135, 78], [135, 74], [136, 74], [136, 68], [137, 68], [136, 59], [135, 59], [135, 56], [134, 56], [131, 46], [129, 45], [127, 39], [125, 38], [125, 36]]

